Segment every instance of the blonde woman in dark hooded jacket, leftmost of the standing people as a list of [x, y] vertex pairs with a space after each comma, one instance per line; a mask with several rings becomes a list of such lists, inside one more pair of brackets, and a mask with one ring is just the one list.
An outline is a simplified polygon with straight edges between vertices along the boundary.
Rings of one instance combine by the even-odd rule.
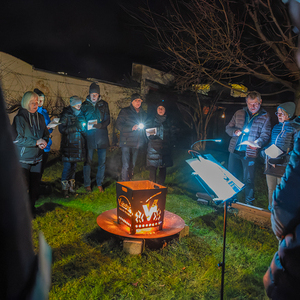
[[35, 202], [39, 198], [43, 153], [49, 140], [45, 119], [37, 109], [38, 95], [28, 91], [23, 95], [21, 107], [13, 121], [16, 132], [14, 143], [25, 175], [33, 215]]

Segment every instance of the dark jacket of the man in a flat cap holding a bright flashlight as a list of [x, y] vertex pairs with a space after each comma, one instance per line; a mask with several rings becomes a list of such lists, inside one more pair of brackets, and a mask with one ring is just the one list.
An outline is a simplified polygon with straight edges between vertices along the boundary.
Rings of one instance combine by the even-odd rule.
[[137, 113], [132, 104], [122, 108], [117, 121], [116, 128], [120, 131], [120, 147], [141, 148], [146, 142], [144, 129], [132, 130], [134, 125], [146, 122], [146, 113], [140, 108]]

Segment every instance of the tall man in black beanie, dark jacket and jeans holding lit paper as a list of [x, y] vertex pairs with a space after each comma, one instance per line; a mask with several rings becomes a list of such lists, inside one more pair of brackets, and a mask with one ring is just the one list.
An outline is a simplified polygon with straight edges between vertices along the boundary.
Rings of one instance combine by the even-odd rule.
[[103, 192], [106, 149], [109, 147], [107, 126], [110, 123], [108, 104], [101, 99], [100, 87], [96, 82], [90, 85], [89, 96], [83, 102], [81, 111], [87, 123], [87, 160], [83, 167], [85, 189], [91, 191], [91, 164], [94, 149], [98, 154], [96, 182], [99, 192]]

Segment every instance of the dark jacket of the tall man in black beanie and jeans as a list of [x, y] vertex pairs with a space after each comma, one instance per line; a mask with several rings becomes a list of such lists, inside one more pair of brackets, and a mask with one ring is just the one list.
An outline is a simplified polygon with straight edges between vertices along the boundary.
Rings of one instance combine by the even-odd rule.
[[108, 104], [101, 97], [94, 104], [90, 96], [82, 103], [81, 111], [85, 117], [86, 123], [91, 120], [97, 120], [96, 129], [87, 130], [87, 147], [89, 149], [108, 148], [107, 126], [110, 124], [110, 113]]

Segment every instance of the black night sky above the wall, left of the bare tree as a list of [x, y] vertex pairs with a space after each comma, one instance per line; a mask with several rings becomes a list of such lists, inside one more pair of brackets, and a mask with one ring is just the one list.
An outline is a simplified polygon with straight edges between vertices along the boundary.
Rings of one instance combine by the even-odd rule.
[[2, 1], [0, 51], [39, 69], [112, 82], [129, 75], [132, 62], [159, 68], [162, 55], [120, 3], [131, 9], [141, 0]]

